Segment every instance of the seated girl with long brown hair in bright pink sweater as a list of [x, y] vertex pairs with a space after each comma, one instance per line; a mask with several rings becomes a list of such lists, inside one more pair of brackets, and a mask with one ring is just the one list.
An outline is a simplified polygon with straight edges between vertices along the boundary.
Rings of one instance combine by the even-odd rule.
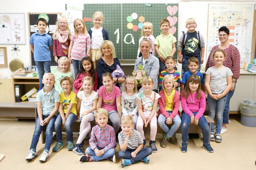
[[181, 152], [187, 152], [188, 129], [192, 123], [202, 129], [203, 148], [207, 152], [213, 152], [209, 144], [209, 125], [203, 116], [205, 105], [205, 94], [201, 90], [200, 79], [197, 75], [192, 74], [187, 80], [185, 89], [181, 92]]

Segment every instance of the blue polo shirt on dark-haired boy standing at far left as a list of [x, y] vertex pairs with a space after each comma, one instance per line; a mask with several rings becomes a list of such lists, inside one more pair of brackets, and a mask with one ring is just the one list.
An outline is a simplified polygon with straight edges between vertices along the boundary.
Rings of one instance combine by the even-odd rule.
[[53, 45], [52, 37], [46, 32], [40, 35], [36, 31], [30, 37], [29, 43], [34, 46], [34, 60], [35, 61], [51, 61], [51, 52], [49, 46]]

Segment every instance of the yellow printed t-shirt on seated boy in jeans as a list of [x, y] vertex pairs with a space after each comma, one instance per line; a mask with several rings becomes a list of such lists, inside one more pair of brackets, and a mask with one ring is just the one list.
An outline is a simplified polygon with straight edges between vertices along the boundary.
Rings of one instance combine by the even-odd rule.
[[74, 113], [77, 116], [76, 112], [76, 95], [73, 91], [71, 91], [69, 96], [65, 96], [64, 92], [59, 94], [59, 101], [62, 103], [63, 112], [66, 114], [69, 108], [70, 103], [74, 103], [74, 106], [70, 113]]

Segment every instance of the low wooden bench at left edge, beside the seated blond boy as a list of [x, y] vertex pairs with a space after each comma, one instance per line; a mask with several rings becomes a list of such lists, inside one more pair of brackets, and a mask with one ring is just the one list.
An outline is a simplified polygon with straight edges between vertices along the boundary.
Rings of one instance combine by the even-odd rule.
[[35, 118], [37, 104], [32, 102], [0, 103], [0, 117]]

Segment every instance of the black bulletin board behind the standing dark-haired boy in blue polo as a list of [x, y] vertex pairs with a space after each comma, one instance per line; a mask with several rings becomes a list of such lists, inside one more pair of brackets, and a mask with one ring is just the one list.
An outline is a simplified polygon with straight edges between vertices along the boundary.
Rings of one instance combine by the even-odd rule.
[[[46, 33], [52, 36], [56, 29], [56, 21], [59, 16], [61, 16], [62, 13], [56, 12], [56, 13], [28, 13], [28, 24], [29, 24], [29, 39], [33, 33], [35, 33], [38, 29], [36, 27], [36, 20], [38, 18], [45, 18], [47, 21], [47, 28]], [[52, 63], [51, 66], [56, 66], [56, 63], [54, 61], [53, 57], [53, 50], [51, 51], [51, 58]], [[31, 65], [35, 66], [35, 60], [34, 60], [34, 54], [31, 51]]]

